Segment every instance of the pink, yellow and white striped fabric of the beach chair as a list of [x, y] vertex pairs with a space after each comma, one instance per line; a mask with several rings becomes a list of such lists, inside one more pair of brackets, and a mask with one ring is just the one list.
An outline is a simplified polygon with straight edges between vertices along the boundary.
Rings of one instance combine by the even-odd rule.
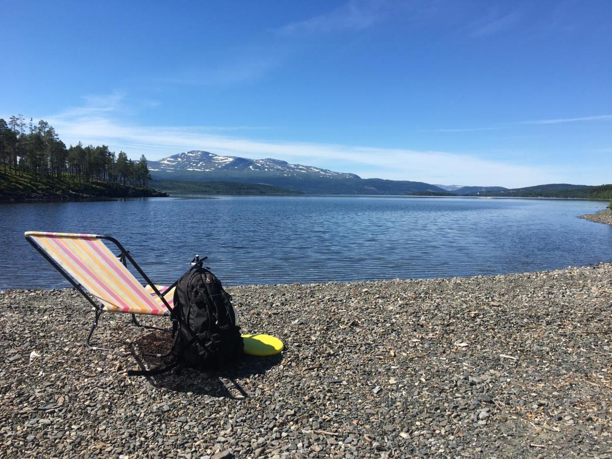
[[[168, 308], [151, 286], [143, 287], [96, 234], [27, 231], [67, 274], [80, 283], [105, 311], [168, 315]], [[155, 286], [160, 292], [167, 287]], [[164, 298], [173, 307], [174, 289]]]

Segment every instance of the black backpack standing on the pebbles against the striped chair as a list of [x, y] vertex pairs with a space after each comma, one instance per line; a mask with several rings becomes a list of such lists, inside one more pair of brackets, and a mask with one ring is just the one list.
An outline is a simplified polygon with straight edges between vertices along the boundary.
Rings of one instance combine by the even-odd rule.
[[218, 368], [240, 359], [244, 343], [231, 296], [217, 276], [196, 264], [176, 283], [172, 354], [183, 367]]

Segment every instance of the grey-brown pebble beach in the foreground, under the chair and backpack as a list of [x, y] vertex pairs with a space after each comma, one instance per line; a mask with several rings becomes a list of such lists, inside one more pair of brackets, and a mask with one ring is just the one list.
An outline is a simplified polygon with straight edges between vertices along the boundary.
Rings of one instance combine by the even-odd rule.
[[[2, 457], [612, 457], [612, 264], [239, 286], [285, 341], [219, 373], [127, 376], [170, 342], [69, 289], [0, 294]], [[163, 318], [149, 318], [163, 323]]]

